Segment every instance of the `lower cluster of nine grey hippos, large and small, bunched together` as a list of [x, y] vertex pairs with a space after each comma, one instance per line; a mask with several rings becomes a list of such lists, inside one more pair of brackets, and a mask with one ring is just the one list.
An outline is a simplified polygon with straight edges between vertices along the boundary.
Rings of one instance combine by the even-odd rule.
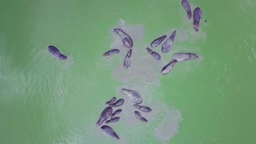
[[[135, 103], [133, 105], [133, 107], [135, 107], [138, 110], [141, 110], [143, 112], [150, 112], [152, 111], [152, 109], [150, 109], [150, 107], [148, 106], [141, 106], [139, 104], [142, 103], [142, 97], [141, 95], [136, 92], [133, 91], [131, 89], [121, 89], [120, 91], [122, 94], [126, 95], [127, 97], [129, 97], [129, 99]], [[108, 107], [106, 107], [100, 115], [100, 118], [98, 118], [98, 121], [96, 123], [97, 126], [101, 125], [104, 121], [106, 121], [109, 117], [110, 119], [107, 120], [105, 123], [114, 123], [114, 122], [118, 122], [120, 117], [115, 117], [115, 115], [118, 115], [119, 113], [122, 112], [121, 109], [116, 110], [115, 112], [113, 112], [113, 108], [112, 107], [118, 107], [124, 104], [124, 99], [119, 99], [115, 102], [115, 100], [117, 100], [116, 97], [111, 98], [109, 101], [106, 102], [106, 105], [108, 105]], [[115, 102], [115, 103], [114, 103]], [[142, 114], [139, 111], [134, 111], [134, 115], [135, 117], [141, 121], [141, 122], [148, 122], [148, 120], [146, 118], [144, 118], [142, 116]], [[109, 127], [108, 125], [103, 125], [101, 127], [101, 130], [103, 132], [104, 135], [110, 136], [115, 140], [119, 140], [119, 136], [117, 135], [117, 133], [115, 133], [115, 131]]]

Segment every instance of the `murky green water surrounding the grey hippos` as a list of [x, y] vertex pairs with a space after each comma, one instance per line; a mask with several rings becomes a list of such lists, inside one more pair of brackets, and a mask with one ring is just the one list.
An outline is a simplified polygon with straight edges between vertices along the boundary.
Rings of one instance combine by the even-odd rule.
[[[207, 20], [198, 33], [177, 0], [0, 2], [0, 143], [255, 143], [255, 1], [189, 2]], [[121, 69], [125, 47], [102, 57], [122, 20], [133, 37], [141, 34], [127, 70]], [[155, 61], [144, 49], [174, 28], [173, 49], [163, 54], [155, 48], [162, 56]], [[48, 45], [59, 47], [67, 61], [51, 57]], [[174, 52], [200, 58], [162, 75]], [[148, 123], [129, 125], [124, 111], [110, 124], [120, 137], [114, 141], [96, 122], [104, 102], [124, 98], [122, 87], [137, 88], [155, 113], [142, 113], [152, 117]], [[176, 128], [167, 130], [173, 132], [167, 141], [154, 133], [167, 124], [164, 117]]]

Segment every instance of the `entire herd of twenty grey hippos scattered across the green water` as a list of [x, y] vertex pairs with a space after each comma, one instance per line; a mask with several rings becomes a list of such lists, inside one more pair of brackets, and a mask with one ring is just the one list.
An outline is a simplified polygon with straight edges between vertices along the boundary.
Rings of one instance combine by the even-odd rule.
[[[183, 8], [185, 9], [185, 11], [187, 12], [187, 17], [190, 20], [192, 17], [192, 13], [191, 13], [189, 2], [187, 0], [182, 0], [181, 4], [182, 4]], [[199, 7], [195, 8], [193, 11], [193, 19], [194, 19], [193, 26], [194, 26], [194, 29], [196, 32], [199, 31], [199, 22], [201, 19], [201, 15], [202, 15], [201, 9]], [[124, 58], [124, 68], [127, 69], [131, 65], [131, 56], [132, 56], [132, 47], [133, 47], [132, 38], [129, 36], [129, 34], [124, 32], [120, 28], [114, 28], [113, 32], [117, 33], [120, 36], [121, 40], [123, 41], [124, 46], [129, 49]], [[152, 48], [158, 47], [166, 39], [165, 42], [161, 46], [161, 52], [167, 53], [172, 49], [175, 36], [176, 36], [176, 30], [174, 30], [170, 34], [170, 37], [167, 37], [167, 35], [162, 35], [161, 37], [156, 38], [155, 40], [152, 41], [150, 46]], [[67, 59], [67, 56], [63, 55], [59, 51], [59, 49], [57, 49], [57, 47], [55, 47], [53, 45], [48, 46], [48, 51], [53, 57], [59, 58], [61, 60]], [[159, 55], [159, 53], [153, 51], [149, 47], [146, 48], [146, 51], [148, 53], [150, 53], [150, 55], [152, 55], [156, 60], [161, 59], [161, 56]], [[118, 49], [112, 49], [112, 50], [109, 50], [109, 51], [103, 53], [103, 56], [107, 57], [107, 56], [111, 56], [111, 55], [116, 55], [119, 52], [120, 52], [120, 50], [118, 50]], [[172, 55], [171, 62], [169, 62], [167, 65], [165, 65], [165, 67], [162, 68], [161, 73], [163, 75], [166, 75], [166, 74], [170, 73], [170, 71], [172, 70], [172, 68], [174, 67], [174, 65], [176, 63], [187, 61], [189, 59], [195, 59], [195, 58], [198, 58], [198, 56], [195, 53], [185, 53], [185, 52], [174, 53]], [[132, 103], [135, 103], [133, 105], [133, 107], [135, 107], [136, 109], [143, 111], [143, 112], [152, 111], [152, 109], [150, 109], [150, 107], [140, 105], [140, 104], [142, 104], [142, 97], [138, 92], [132, 91], [131, 89], [125, 89], [125, 88], [121, 89], [120, 92], [122, 94], [126, 95], [127, 97], [129, 97], [129, 99], [132, 101]], [[119, 113], [121, 113], [122, 110], [118, 109], [113, 112], [113, 108], [123, 105], [125, 100], [124, 99], [119, 99], [117, 101], [116, 100], [117, 100], [117, 98], [113, 97], [112, 99], [110, 99], [109, 101], [106, 102], [106, 105], [108, 105], [108, 106], [102, 111], [100, 118], [98, 119], [98, 121], [96, 123], [96, 126], [101, 125], [105, 121], [106, 121], [105, 122], [106, 124], [119, 121], [120, 117], [115, 117], [115, 116], [118, 115]], [[148, 122], [148, 120], [145, 117], [143, 117], [139, 111], [134, 111], [134, 115], [139, 121]], [[109, 117], [110, 117], [110, 119], [108, 119]], [[108, 125], [103, 125], [101, 127], [101, 130], [104, 135], [113, 137], [113, 139], [115, 139], [115, 140], [119, 140], [119, 136]]]

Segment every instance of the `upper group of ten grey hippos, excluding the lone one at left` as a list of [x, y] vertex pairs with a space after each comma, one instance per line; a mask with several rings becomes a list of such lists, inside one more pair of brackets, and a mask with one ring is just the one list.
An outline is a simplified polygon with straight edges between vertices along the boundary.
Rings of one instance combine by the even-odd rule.
[[[185, 11], [187, 12], [188, 19], [190, 20], [192, 14], [191, 14], [189, 2], [187, 0], [182, 0], [182, 6], [185, 9]], [[201, 15], [202, 15], [201, 9], [199, 7], [195, 8], [193, 11], [193, 19], [194, 19], [193, 25], [194, 25], [194, 29], [196, 32], [199, 31], [198, 28], [199, 28], [199, 22], [201, 19]], [[114, 28], [113, 32], [119, 34], [121, 40], [123, 41], [124, 46], [130, 49], [129, 51], [127, 51], [127, 55], [125, 56], [125, 59], [124, 59], [124, 68], [127, 69], [131, 65], [133, 41], [127, 33], [125, 33], [124, 31], [122, 31], [119, 28]], [[167, 38], [167, 35], [162, 35], [161, 37], [156, 38], [155, 40], [152, 41], [150, 46], [158, 47], [167, 38], [161, 47], [161, 52], [167, 53], [172, 49], [175, 36], [176, 36], [176, 30], [174, 30], [170, 34], [170, 37], [168, 37], [168, 38]], [[161, 59], [161, 56], [159, 55], [158, 52], [153, 51], [149, 47], [147, 47], [146, 50], [156, 60]], [[119, 52], [120, 52], [120, 50], [118, 50], [118, 49], [112, 49], [112, 50], [109, 50], [109, 51], [103, 53], [103, 56], [106, 57], [106, 56], [110, 56], [110, 55], [115, 55], [115, 54], [118, 54]], [[166, 74], [170, 73], [170, 71], [172, 70], [172, 68], [174, 67], [174, 65], [177, 62], [183, 62], [183, 61], [187, 61], [189, 59], [195, 59], [195, 58], [198, 58], [198, 56], [195, 53], [185, 53], [185, 52], [174, 53], [172, 56], [172, 61], [169, 62], [167, 65], [165, 65], [165, 67], [162, 68], [161, 73], [163, 75], [166, 75]]]

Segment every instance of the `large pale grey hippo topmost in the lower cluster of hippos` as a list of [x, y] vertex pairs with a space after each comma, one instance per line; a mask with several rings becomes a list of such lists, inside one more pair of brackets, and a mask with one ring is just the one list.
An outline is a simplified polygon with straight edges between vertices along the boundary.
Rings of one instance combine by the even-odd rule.
[[132, 91], [131, 89], [122, 88], [121, 93], [127, 95], [130, 98], [130, 100], [135, 104], [142, 103], [141, 95], [138, 92]]

